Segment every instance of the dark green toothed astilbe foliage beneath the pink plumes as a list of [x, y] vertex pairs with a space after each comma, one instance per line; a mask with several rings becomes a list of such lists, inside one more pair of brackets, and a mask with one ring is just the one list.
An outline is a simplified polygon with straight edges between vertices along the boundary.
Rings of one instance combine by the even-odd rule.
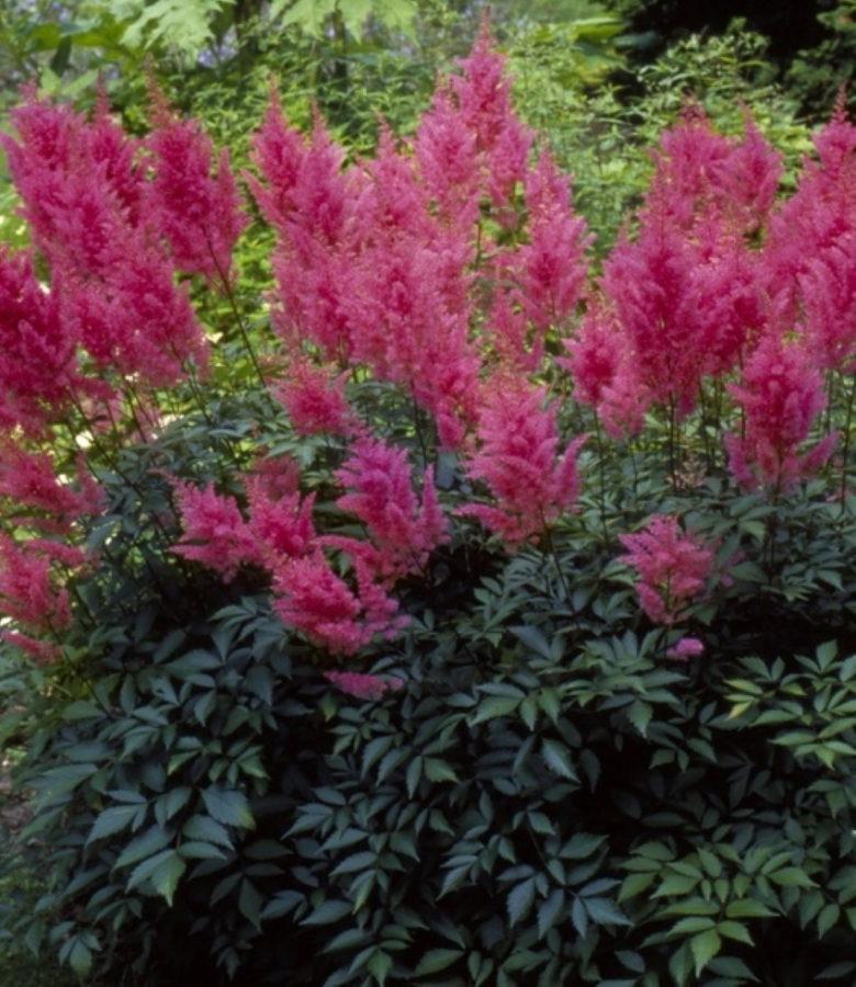
[[[240, 456], [264, 418], [207, 413], [137, 472], [126, 454], [136, 489], [111, 481], [93, 537], [124, 588], [87, 591], [97, 629], [37, 710], [27, 838], [50, 887], [10, 916], [18, 941], [151, 987], [851, 983], [856, 503], [820, 483], [775, 507], [716, 478], [674, 494], [639, 453], [623, 479], [608, 458], [552, 551], [462, 529], [369, 656], [403, 689], [360, 703], [251, 572], [224, 588], [139, 541], [168, 508], [157, 468], [202, 480], [205, 442]], [[322, 497], [328, 455], [302, 450]], [[652, 510], [731, 559], [692, 608], [691, 665], [616, 561]]]

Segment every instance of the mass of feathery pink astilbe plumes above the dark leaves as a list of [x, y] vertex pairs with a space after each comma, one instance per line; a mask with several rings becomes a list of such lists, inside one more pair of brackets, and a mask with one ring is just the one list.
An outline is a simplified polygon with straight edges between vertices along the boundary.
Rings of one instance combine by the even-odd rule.
[[[613, 438], [638, 434], [649, 410], [665, 413], [673, 481], [682, 423], [706, 395], [720, 428], [728, 395], [741, 416], [736, 432], [721, 428], [741, 484], [786, 489], [835, 442], [821, 436], [802, 451], [825, 405], [823, 375], [846, 372], [853, 350], [856, 141], [841, 107], [816, 138], [819, 161], [777, 204], [781, 161], [751, 118], [742, 139], [729, 138], [689, 105], [654, 155], [635, 234], [623, 234], [589, 286], [590, 237], [570, 182], [548, 151], [532, 152], [503, 65], [485, 29], [413, 140], [382, 127], [370, 160], [348, 161], [319, 117], [304, 137], [275, 92], [252, 141], [258, 175], [247, 181], [277, 238], [269, 300], [282, 355], [268, 359], [271, 396], [296, 434], [334, 442], [335, 503], [363, 535], [316, 531], [315, 496], [301, 494], [297, 474], [293, 489], [271, 496], [241, 468], [237, 499], [173, 483], [183, 529], [173, 553], [226, 580], [267, 572], [285, 622], [336, 653], [399, 629], [395, 583], [425, 572], [449, 542], [428, 463], [435, 444], [476, 485], [471, 502], [455, 494], [453, 513], [478, 519], [511, 551], [573, 511], [585, 436], [560, 451], [556, 367]], [[228, 157], [156, 88], [150, 120], [138, 140], [103, 97], [88, 118], [31, 91], [3, 138], [49, 272], [44, 285], [33, 258], [0, 259], [3, 487], [52, 515], [57, 537], [74, 540], [75, 512], [98, 511], [97, 480], [82, 477], [120, 436], [117, 420], [132, 416], [145, 438], [156, 388], [205, 372], [209, 344], [176, 273], [201, 275], [235, 305], [232, 254], [248, 219]], [[793, 229], [811, 238], [810, 262], [789, 246]], [[556, 359], [560, 339], [567, 355]], [[420, 475], [351, 404], [367, 375], [412, 402]], [[69, 415], [92, 434], [76, 466], [86, 497], [48, 475]], [[112, 465], [95, 465], [95, 478]]]

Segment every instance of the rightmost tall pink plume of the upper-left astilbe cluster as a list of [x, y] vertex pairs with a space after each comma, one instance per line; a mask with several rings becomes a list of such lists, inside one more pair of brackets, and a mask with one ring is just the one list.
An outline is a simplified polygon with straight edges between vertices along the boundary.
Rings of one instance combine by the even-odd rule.
[[228, 282], [232, 252], [248, 217], [224, 148], [213, 168], [211, 139], [196, 121], [181, 120], [153, 90], [154, 129], [146, 138], [150, 180], [145, 208], [169, 245], [176, 266]]

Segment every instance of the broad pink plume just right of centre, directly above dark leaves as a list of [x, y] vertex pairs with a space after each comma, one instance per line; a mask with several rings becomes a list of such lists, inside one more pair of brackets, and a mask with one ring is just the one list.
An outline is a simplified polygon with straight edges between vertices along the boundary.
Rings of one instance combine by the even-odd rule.
[[573, 508], [579, 490], [576, 454], [585, 438], [559, 456], [554, 407], [544, 407], [543, 387], [520, 378], [495, 377], [484, 387], [477, 446], [466, 473], [484, 480], [495, 506], [466, 504], [457, 513], [477, 518], [511, 548], [541, 534]]

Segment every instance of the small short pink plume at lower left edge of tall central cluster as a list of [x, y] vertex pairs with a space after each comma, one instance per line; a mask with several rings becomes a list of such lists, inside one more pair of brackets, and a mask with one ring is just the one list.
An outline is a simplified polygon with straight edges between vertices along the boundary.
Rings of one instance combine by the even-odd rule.
[[334, 376], [303, 356], [292, 360], [286, 378], [277, 385], [273, 396], [289, 412], [299, 435], [348, 435], [353, 431], [356, 420], [345, 396], [349, 374], [345, 371]]

